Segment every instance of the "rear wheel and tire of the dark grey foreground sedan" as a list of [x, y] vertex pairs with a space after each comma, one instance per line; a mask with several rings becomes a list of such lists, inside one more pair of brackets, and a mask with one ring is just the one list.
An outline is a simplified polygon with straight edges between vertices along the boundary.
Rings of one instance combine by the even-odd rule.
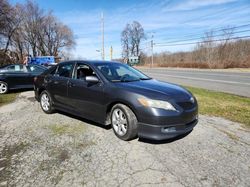
[[46, 90], [42, 91], [40, 94], [40, 106], [46, 114], [52, 114], [54, 112], [54, 108], [52, 107], [52, 99], [49, 92]]

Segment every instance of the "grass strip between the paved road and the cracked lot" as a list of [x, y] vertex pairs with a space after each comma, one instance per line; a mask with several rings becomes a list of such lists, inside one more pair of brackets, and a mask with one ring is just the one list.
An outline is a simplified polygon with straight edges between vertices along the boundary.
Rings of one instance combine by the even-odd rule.
[[240, 122], [250, 127], [250, 98], [185, 86], [198, 100], [199, 113]]

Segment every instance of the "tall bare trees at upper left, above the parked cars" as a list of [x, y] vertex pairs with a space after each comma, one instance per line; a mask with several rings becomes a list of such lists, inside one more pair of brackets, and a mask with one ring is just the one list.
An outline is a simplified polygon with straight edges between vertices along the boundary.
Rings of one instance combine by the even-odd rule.
[[72, 30], [34, 1], [12, 6], [0, 0], [0, 7], [0, 65], [26, 55], [63, 58], [74, 47]]

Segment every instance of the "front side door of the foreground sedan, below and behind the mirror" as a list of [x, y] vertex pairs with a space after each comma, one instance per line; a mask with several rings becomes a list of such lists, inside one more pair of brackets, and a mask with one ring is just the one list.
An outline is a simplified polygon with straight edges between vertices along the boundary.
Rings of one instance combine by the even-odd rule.
[[92, 68], [84, 63], [76, 65], [73, 79], [68, 83], [68, 96], [71, 107], [83, 117], [103, 122], [105, 119], [105, 94], [104, 84], [89, 83], [86, 76], [97, 76]]

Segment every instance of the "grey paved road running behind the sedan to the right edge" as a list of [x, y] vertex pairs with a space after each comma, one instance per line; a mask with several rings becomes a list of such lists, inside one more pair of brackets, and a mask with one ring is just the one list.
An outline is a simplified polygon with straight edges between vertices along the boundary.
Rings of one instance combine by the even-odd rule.
[[161, 81], [250, 97], [250, 72], [172, 68], [139, 69], [148, 76]]

